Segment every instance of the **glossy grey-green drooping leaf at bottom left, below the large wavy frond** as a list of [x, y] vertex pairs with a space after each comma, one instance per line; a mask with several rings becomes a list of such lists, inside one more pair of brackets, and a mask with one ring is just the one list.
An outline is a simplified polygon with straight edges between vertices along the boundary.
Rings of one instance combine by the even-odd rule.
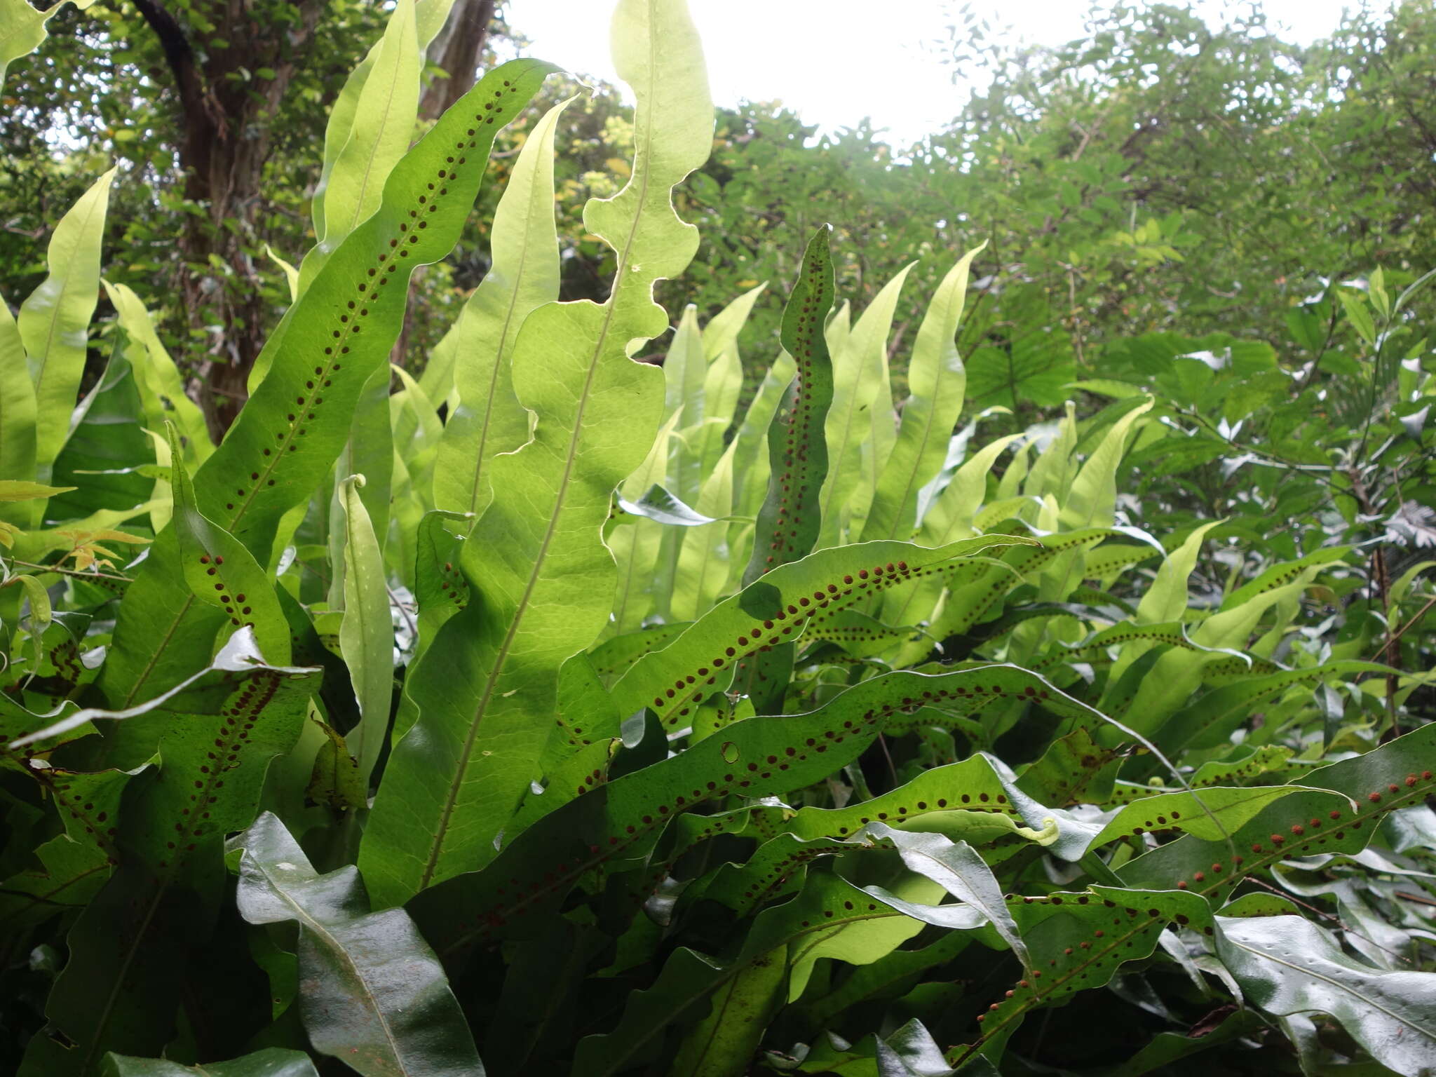
[[482, 1073], [448, 978], [408, 913], [370, 913], [359, 873], [319, 875], [270, 813], [236, 844], [240, 915], [299, 925], [300, 1014], [319, 1051], [365, 1077]]

